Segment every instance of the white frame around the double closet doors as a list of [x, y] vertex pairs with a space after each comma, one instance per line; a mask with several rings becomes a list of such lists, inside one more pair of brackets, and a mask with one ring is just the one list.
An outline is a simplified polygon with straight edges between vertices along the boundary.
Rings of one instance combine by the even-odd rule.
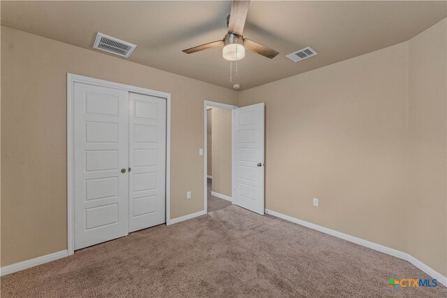
[[67, 250], [75, 253], [74, 231], [74, 84], [84, 83], [166, 99], [166, 225], [170, 225], [170, 93], [67, 73]]

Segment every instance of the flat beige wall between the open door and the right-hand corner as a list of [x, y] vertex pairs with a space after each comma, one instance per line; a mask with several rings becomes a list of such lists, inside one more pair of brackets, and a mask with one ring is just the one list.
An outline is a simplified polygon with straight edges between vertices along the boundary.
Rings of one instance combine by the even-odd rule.
[[266, 105], [266, 208], [404, 250], [407, 78], [401, 43], [240, 92]]

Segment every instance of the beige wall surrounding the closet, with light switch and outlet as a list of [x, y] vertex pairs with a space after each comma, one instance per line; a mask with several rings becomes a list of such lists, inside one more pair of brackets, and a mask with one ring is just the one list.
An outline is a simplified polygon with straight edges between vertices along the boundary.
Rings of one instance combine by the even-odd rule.
[[203, 210], [203, 101], [237, 104], [233, 90], [2, 27], [1, 266], [66, 249], [66, 73], [170, 92], [171, 218]]

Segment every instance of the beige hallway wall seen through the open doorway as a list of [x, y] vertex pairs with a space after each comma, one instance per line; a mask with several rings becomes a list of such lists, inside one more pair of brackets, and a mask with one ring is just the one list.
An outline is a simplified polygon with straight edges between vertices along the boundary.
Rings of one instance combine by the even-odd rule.
[[231, 197], [231, 110], [212, 108], [212, 191]]

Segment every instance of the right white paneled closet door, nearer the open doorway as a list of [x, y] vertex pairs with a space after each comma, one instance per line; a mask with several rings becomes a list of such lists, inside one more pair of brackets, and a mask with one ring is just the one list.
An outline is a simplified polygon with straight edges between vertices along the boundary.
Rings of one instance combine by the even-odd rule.
[[129, 232], [133, 232], [166, 222], [166, 99], [135, 93], [129, 97]]

